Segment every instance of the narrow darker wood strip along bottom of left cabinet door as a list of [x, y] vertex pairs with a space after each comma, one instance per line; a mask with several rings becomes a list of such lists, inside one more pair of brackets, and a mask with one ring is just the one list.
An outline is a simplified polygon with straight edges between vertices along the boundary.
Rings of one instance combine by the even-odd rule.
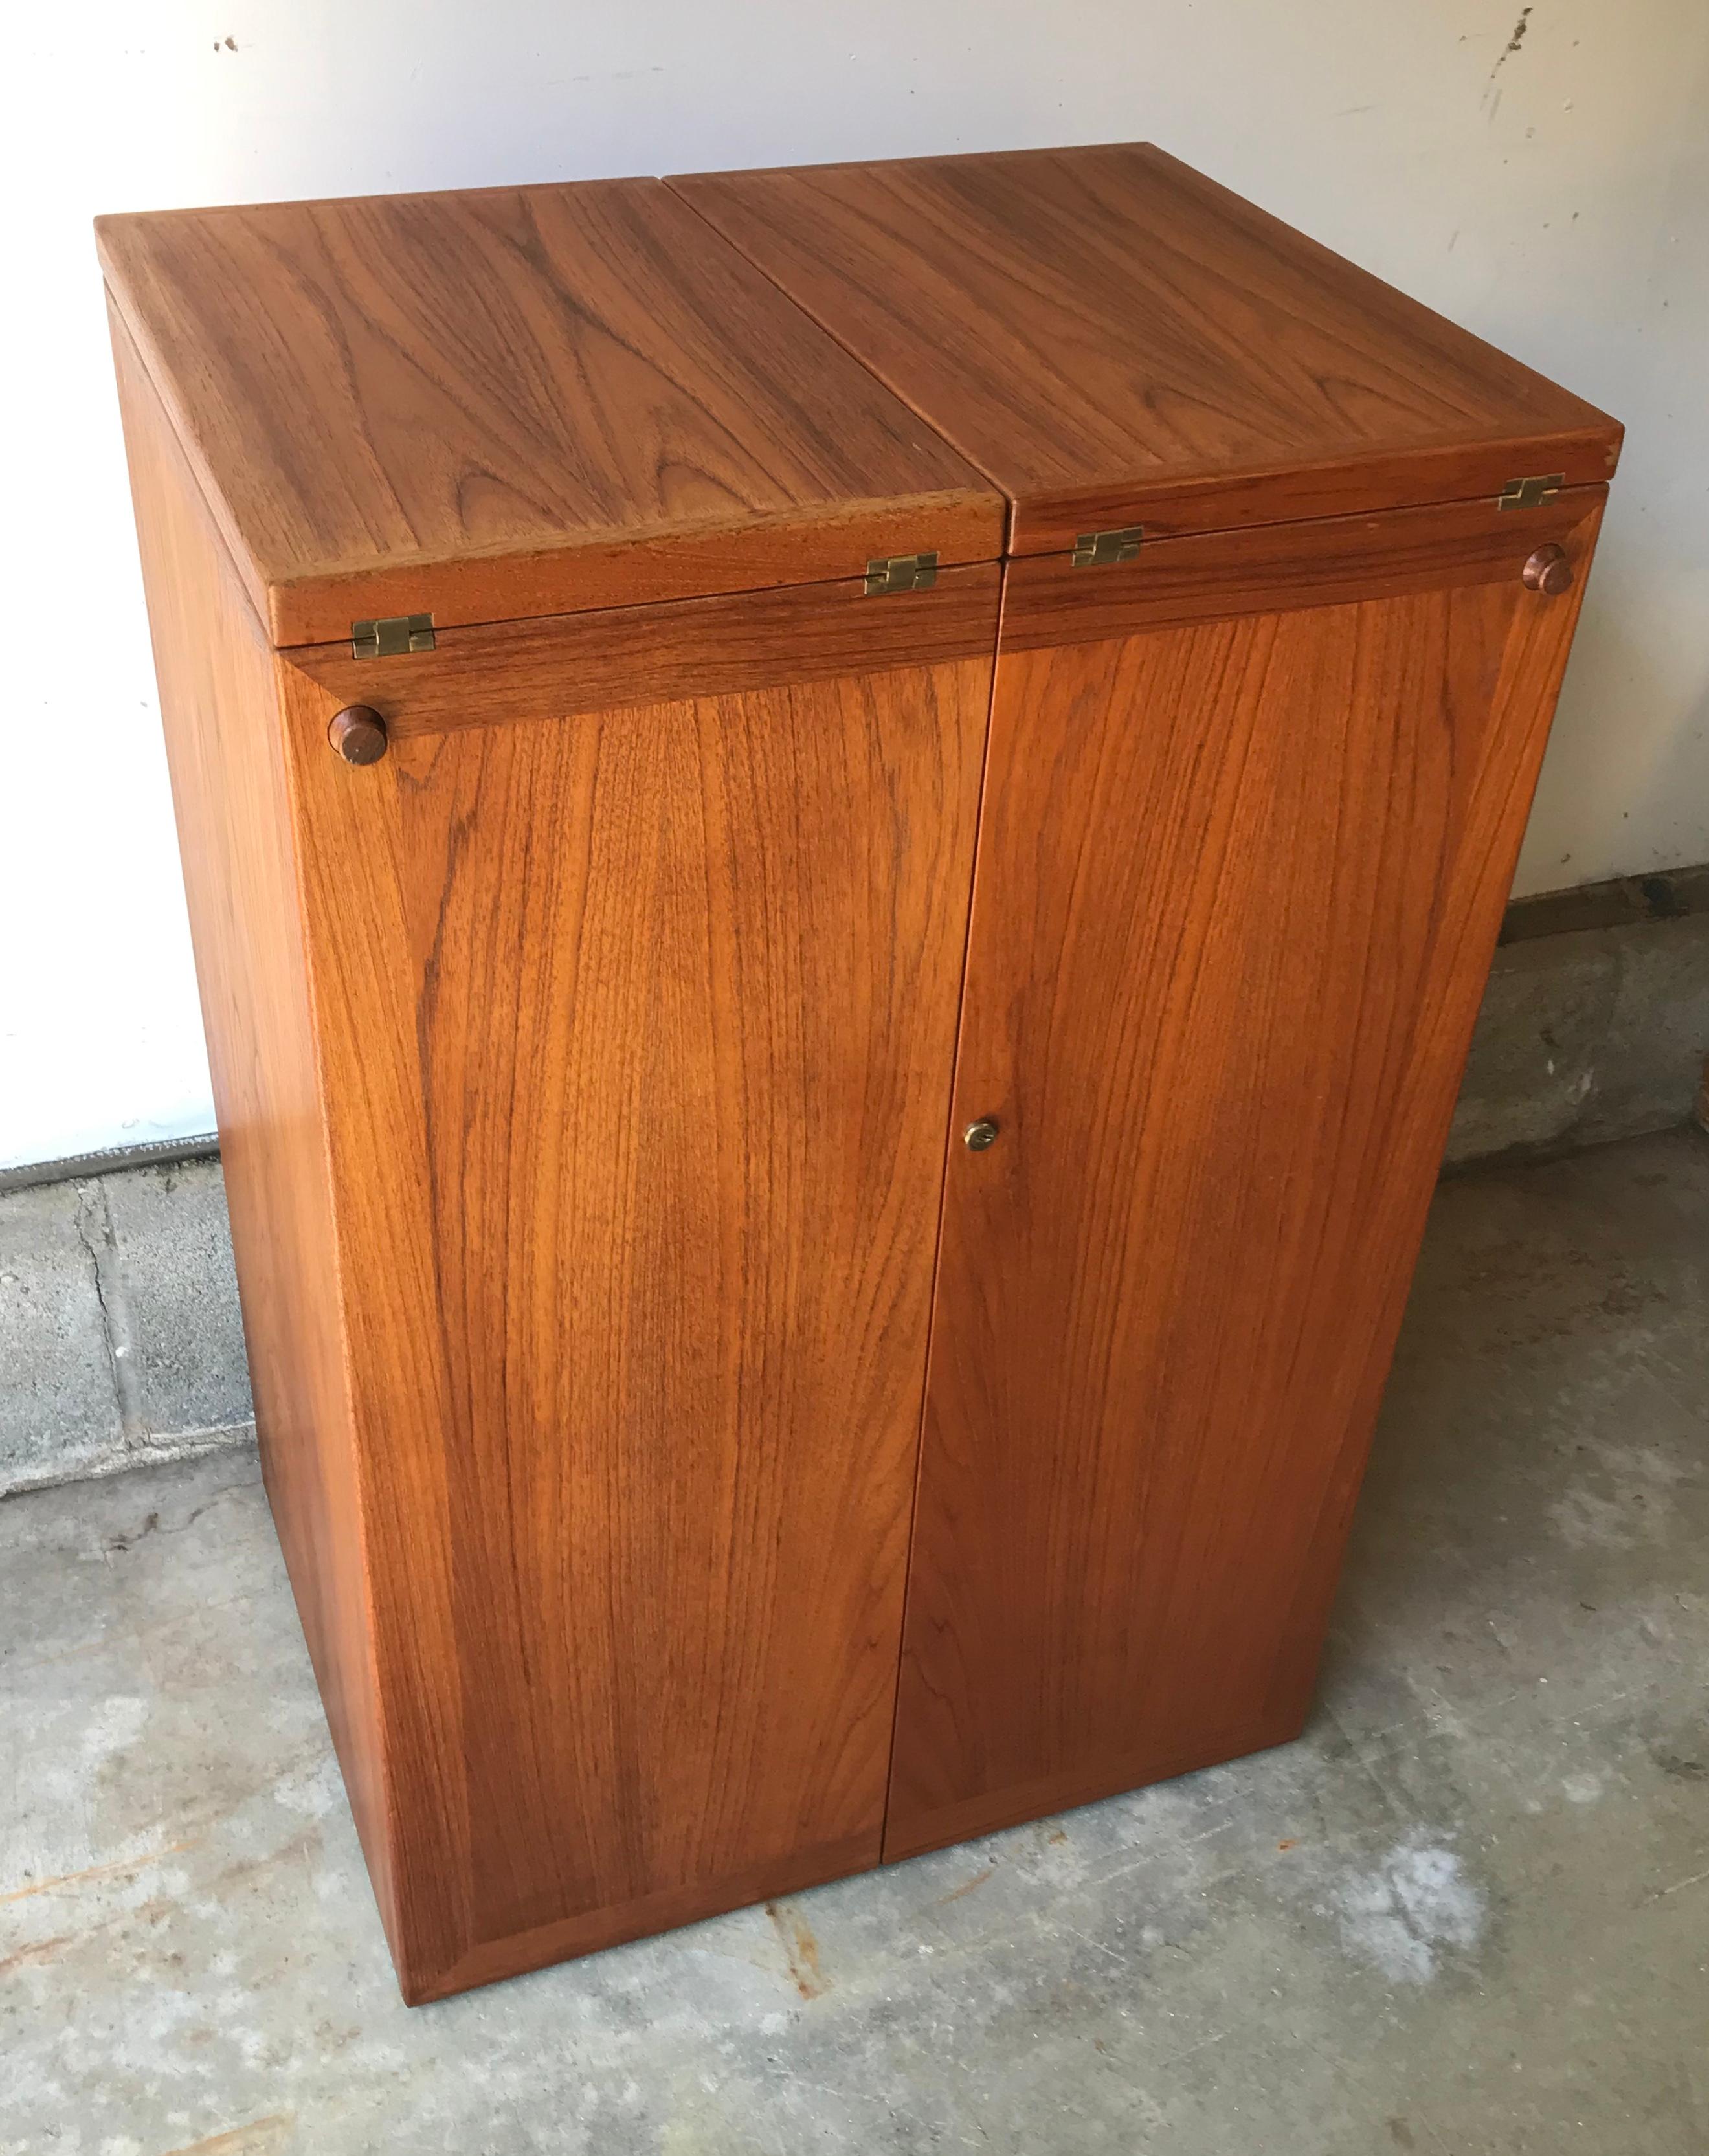
[[399, 1968], [399, 1990], [405, 2005], [431, 2005], [435, 1999], [450, 1999], [455, 1992], [468, 1992], [481, 1984], [524, 1977], [552, 1962], [573, 1962], [584, 1953], [623, 1947], [631, 1938], [675, 1932], [707, 1917], [724, 1917], [733, 1908], [774, 1902], [778, 1895], [823, 1887], [828, 1880], [849, 1878], [856, 1871], [873, 1871], [877, 1863], [879, 1830], [873, 1826], [845, 1841], [797, 1850], [787, 1858], [754, 1865], [720, 1880], [666, 1887], [662, 1893], [649, 1893], [636, 1902], [616, 1902], [608, 1908], [560, 1917], [506, 1938], [485, 1938], [459, 1955], [450, 1968], [420, 1975]]

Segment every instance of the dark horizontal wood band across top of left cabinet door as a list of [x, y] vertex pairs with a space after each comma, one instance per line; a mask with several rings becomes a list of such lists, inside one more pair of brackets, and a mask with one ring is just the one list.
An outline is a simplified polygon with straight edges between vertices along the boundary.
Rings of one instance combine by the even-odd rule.
[[[787, 681], [991, 660], [996, 563], [940, 569], [931, 591], [869, 597], [862, 580], [597, 614], [547, 614], [450, 630], [431, 653], [356, 660], [349, 642], [289, 651], [338, 703], [364, 703], [394, 740], [457, 727], [571, 718], [692, 696], [733, 696]], [[487, 703], [502, 679], [502, 705]]]

